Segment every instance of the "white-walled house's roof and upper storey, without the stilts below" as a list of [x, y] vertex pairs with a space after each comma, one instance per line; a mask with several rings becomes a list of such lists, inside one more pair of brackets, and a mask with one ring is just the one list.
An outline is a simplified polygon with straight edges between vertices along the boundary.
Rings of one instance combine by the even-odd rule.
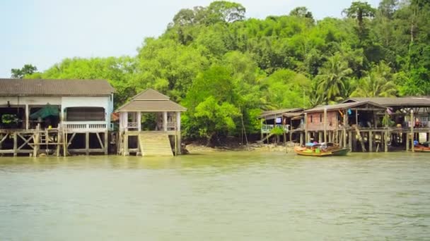
[[19, 123], [14, 128], [28, 130], [40, 123], [30, 115], [49, 104], [59, 110], [56, 126], [108, 130], [114, 92], [106, 80], [0, 79], [0, 115], [16, 115]]

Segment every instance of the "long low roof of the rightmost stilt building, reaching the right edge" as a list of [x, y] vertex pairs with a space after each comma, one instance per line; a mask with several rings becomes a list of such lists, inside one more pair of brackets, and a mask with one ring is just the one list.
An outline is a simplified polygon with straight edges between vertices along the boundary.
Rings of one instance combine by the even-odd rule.
[[343, 103], [351, 101], [372, 101], [383, 106], [430, 106], [430, 97], [354, 97]]

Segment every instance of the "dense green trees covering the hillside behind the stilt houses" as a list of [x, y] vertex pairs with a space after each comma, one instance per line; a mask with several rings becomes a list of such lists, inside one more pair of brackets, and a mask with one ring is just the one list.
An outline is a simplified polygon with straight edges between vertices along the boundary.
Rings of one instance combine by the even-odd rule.
[[187, 137], [209, 141], [256, 132], [260, 110], [430, 94], [430, 0], [354, 2], [342, 14], [245, 19], [240, 4], [215, 1], [180, 10], [135, 57], [65, 59], [31, 77], [110, 80], [116, 106], [153, 87], [187, 107]]

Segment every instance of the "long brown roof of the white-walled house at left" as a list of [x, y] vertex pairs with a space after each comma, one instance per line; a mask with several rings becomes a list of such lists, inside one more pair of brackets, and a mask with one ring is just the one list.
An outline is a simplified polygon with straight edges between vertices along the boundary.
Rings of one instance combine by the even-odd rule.
[[115, 92], [106, 80], [0, 79], [0, 96], [105, 96]]

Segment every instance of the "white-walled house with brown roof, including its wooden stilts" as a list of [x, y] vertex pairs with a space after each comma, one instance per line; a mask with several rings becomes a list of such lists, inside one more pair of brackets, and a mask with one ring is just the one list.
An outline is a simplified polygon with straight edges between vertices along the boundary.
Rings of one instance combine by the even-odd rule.
[[0, 153], [107, 154], [114, 92], [106, 80], [0, 79]]

